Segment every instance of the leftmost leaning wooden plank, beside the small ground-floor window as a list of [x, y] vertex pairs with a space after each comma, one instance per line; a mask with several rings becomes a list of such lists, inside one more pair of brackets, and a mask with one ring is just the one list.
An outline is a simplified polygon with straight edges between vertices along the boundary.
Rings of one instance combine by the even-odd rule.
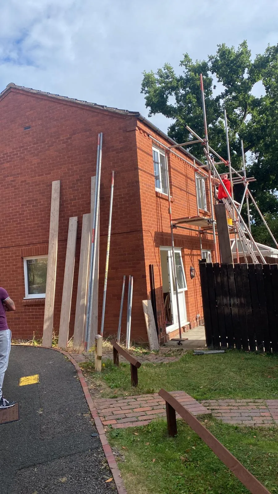
[[59, 205], [60, 205], [60, 180], [52, 182], [49, 242], [46, 274], [46, 302], [43, 330], [43, 347], [52, 346], [54, 297], [56, 284], [56, 265], [58, 248], [59, 227]]

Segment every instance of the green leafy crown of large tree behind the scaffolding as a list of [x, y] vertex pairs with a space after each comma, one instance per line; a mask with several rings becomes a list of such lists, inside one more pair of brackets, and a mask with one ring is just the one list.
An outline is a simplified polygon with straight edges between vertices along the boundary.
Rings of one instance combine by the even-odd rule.
[[[257, 180], [250, 183], [250, 190], [268, 220], [275, 222], [278, 215], [278, 45], [268, 46], [262, 55], [252, 60], [246, 41], [237, 49], [223, 43], [207, 60], [193, 62], [185, 53], [180, 66], [183, 70], [179, 75], [168, 63], [156, 73], [143, 73], [141, 92], [145, 95], [149, 116], [162, 113], [174, 119], [168, 134], [177, 142], [193, 139], [186, 124], [203, 136], [199, 80], [202, 73], [210, 145], [227, 159], [226, 108], [232, 166], [241, 168], [242, 139], [244, 152], [249, 151], [248, 174]], [[260, 97], [254, 95], [257, 82], [265, 89]], [[204, 159], [199, 144], [193, 144], [188, 150]], [[235, 192], [242, 195], [242, 186], [236, 189]], [[252, 218], [257, 239], [263, 240], [261, 220], [254, 208]]]

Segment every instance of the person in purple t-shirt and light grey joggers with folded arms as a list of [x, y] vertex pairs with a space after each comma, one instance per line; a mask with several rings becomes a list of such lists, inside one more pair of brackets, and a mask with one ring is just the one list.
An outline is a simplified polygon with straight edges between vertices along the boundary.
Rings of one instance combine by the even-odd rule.
[[8, 328], [6, 311], [15, 310], [15, 305], [6, 290], [0, 287], [0, 410], [13, 407], [15, 402], [9, 402], [2, 396], [2, 385], [5, 371], [8, 367], [11, 331]]

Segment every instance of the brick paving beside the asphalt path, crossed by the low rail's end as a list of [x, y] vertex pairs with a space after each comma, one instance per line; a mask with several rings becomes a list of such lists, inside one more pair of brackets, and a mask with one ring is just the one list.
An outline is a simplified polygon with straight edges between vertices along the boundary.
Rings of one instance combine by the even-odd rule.
[[[210, 413], [184, 391], [171, 394], [193, 415]], [[114, 429], [146, 425], [155, 418], [166, 416], [165, 401], [157, 393], [94, 400], [94, 405], [103, 425], [111, 424]], [[180, 418], [178, 414], [177, 418]]]

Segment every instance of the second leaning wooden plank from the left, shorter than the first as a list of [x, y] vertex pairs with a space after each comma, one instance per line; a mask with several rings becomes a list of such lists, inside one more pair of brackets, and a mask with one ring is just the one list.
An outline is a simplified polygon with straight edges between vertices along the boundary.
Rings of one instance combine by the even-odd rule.
[[77, 216], [74, 216], [73, 218], [69, 219], [68, 241], [67, 241], [64, 284], [63, 284], [60, 327], [59, 327], [59, 339], [58, 339], [58, 346], [60, 348], [66, 348], [68, 345], [77, 223], [78, 223]]

